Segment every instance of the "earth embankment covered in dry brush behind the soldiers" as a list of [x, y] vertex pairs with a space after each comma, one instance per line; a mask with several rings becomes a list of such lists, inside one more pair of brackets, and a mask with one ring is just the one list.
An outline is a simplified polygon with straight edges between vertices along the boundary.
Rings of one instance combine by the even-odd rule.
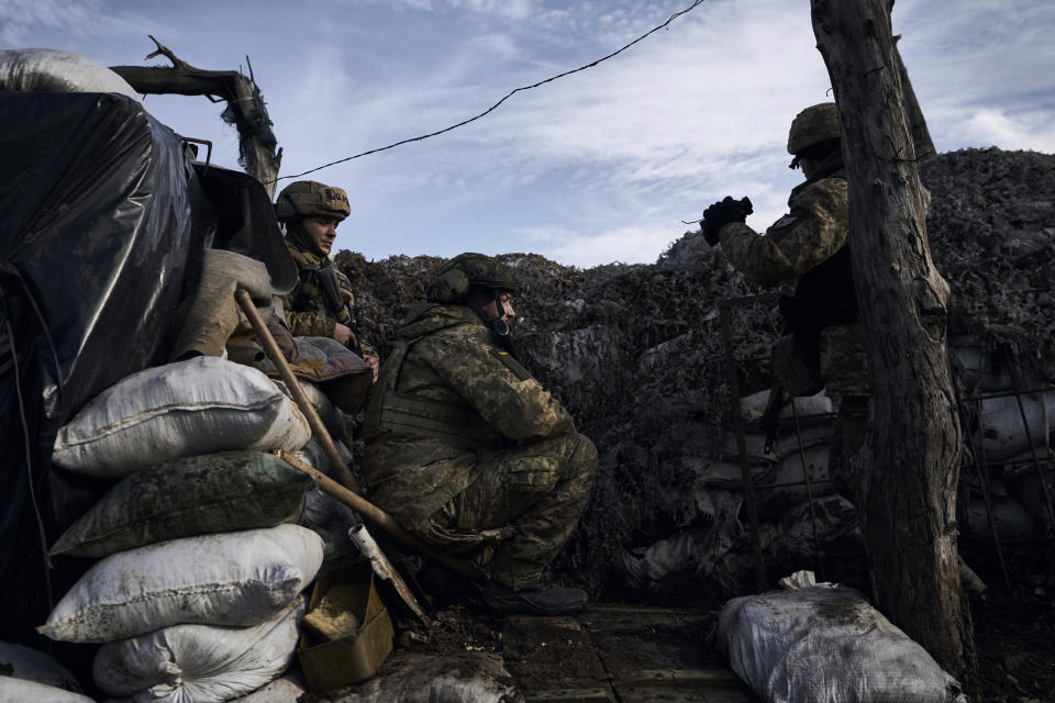
[[[1055, 369], [1055, 156], [968, 149], [921, 168], [932, 193], [933, 258], [953, 288], [955, 327]], [[337, 263], [358, 295], [363, 334], [382, 352], [406, 309], [423, 299], [434, 257]], [[514, 327], [521, 360], [568, 406], [600, 451], [590, 505], [551, 571], [595, 595], [629, 582], [626, 554], [699, 521], [688, 487], [721, 458], [728, 415], [718, 302], [751, 289], [699, 235], [653, 265], [591, 269], [531, 254], [499, 257], [524, 283]], [[732, 313], [744, 394], [768, 387], [776, 313]]]

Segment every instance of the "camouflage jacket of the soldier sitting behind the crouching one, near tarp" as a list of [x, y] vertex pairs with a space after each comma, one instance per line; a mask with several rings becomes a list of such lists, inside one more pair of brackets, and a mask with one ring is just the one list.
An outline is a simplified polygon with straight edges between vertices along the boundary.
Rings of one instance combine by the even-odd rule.
[[[337, 289], [344, 306], [337, 314], [330, 312], [326, 305], [326, 294], [319, 282], [316, 271], [329, 259], [309, 252], [297, 242], [286, 239], [289, 253], [297, 264], [298, 280], [293, 289], [282, 297], [286, 309], [286, 321], [289, 332], [295, 337], [333, 337], [337, 322], [355, 320], [355, 295], [352, 292], [352, 282], [348, 277], [334, 268], [337, 278]], [[373, 348], [363, 339], [358, 341], [365, 355], [375, 355]]]

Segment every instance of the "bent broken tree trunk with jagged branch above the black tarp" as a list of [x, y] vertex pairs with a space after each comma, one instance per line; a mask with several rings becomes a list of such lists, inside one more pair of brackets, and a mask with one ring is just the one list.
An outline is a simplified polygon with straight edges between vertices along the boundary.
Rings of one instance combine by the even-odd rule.
[[[154, 40], [154, 37], [151, 37]], [[268, 196], [275, 199], [275, 179], [282, 163], [282, 149], [270, 132], [271, 121], [259, 90], [251, 77], [234, 70], [202, 70], [180, 60], [168, 48], [154, 40], [157, 51], [147, 58], [164, 55], [173, 62], [171, 68], [155, 66], [111, 66], [137, 92], [153, 94], [207, 96], [225, 100], [234, 115], [238, 131], [241, 159], [245, 171], [264, 183]], [[246, 59], [248, 60], [248, 59]], [[185, 135], [190, 136], [190, 135]]]

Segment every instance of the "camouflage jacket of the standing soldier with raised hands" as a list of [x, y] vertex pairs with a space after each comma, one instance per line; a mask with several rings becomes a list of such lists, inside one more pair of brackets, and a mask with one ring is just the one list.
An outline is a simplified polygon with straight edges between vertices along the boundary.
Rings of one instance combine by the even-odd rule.
[[788, 214], [766, 230], [766, 236], [741, 222], [719, 232], [722, 252], [749, 283], [780, 286], [817, 268], [849, 238], [846, 177], [837, 170], [808, 180], [791, 191]]

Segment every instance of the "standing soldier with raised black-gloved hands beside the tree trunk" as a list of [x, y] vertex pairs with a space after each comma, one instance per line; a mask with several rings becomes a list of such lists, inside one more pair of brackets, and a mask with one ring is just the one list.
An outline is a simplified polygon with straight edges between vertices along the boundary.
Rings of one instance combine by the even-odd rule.
[[[774, 349], [774, 375], [792, 394], [826, 389], [839, 403], [830, 473], [836, 488], [856, 501], [849, 459], [868, 427], [868, 373], [849, 258], [849, 209], [843, 169], [839, 113], [834, 102], [812, 105], [791, 123], [791, 168], [806, 182], [788, 199], [788, 214], [766, 234], [744, 224], [751, 201], [726, 197], [703, 213], [700, 226], [748, 282], [795, 281], [795, 297], [780, 299], [790, 336]], [[784, 341], [782, 341], [784, 342]], [[791, 369], [810, 369], [803, 382]]]

